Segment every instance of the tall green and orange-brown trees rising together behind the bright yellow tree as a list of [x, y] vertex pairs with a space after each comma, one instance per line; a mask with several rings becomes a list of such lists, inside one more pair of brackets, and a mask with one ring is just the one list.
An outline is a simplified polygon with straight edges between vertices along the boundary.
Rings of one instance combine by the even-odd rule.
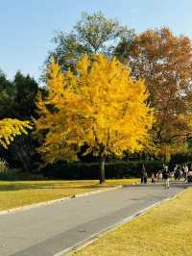
[[136, 35], [103, 13], [88, 15], [66, 34], [55, 38], [56, 49], [49, 55], [63, 71], [75, 64], [85, 53], [116, 57], [130, 66], [132, 78], [144, 79], [149, 106], [155, 109], [156, 124], [152, 131], [149, 153], [158, 152], [169, 158], [171, 153], [187, 150], [191, 136], [192, 49], [185, 36], [177, 37], [168, 28], [147, 30]]

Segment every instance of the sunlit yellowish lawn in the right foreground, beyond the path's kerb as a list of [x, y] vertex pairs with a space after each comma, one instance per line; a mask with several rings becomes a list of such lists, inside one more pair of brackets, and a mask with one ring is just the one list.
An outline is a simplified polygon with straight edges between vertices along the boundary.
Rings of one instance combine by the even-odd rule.
[[192, 189], [70, 255], [192, 255]]

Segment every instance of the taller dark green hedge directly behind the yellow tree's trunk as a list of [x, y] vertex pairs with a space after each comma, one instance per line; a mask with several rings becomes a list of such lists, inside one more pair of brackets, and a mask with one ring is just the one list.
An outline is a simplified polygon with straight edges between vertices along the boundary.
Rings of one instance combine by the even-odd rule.
[[[116, 162], [106, 164], [106, 178], [132, 178], [140, 177], [142, 165], [145, 165], [149, 175], [153, 171], [162, 169], [162, 163], [151, 162]], [[44, 177], [52, 179], [98, 179], [99, 163], [73, 163], [59, 162], [42, 169]]]

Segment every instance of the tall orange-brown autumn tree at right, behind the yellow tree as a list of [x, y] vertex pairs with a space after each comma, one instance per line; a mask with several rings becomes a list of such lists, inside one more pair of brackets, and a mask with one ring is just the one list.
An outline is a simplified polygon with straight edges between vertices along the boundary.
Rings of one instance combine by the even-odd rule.
[[149, 103], [156, 111], [154, 141], [162, 148], [177, 145], [191, 132], [192, 48], [189, 38], [176, 37], [167, 28], [147, 30], [132, 44], [119, 43], [115, 54], [132, 68], [134, 78], [144, 78]]

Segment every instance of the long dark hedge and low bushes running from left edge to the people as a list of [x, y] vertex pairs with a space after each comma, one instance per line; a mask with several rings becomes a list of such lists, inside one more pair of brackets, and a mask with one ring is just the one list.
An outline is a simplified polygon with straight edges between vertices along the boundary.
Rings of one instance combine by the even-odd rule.
[[[106, 163], [106, 178], [139, 178], [143, 164], [149, 174], [162, 169], [162, 162], [115, 162]], [[0, 172], [0, 180], [42, 180], [42, 179], [66, 179], [84, 180], [98, 179], [99, 163], [71, 163], [58, 162], [41, 169], [38, 173], [30, 172]]]

